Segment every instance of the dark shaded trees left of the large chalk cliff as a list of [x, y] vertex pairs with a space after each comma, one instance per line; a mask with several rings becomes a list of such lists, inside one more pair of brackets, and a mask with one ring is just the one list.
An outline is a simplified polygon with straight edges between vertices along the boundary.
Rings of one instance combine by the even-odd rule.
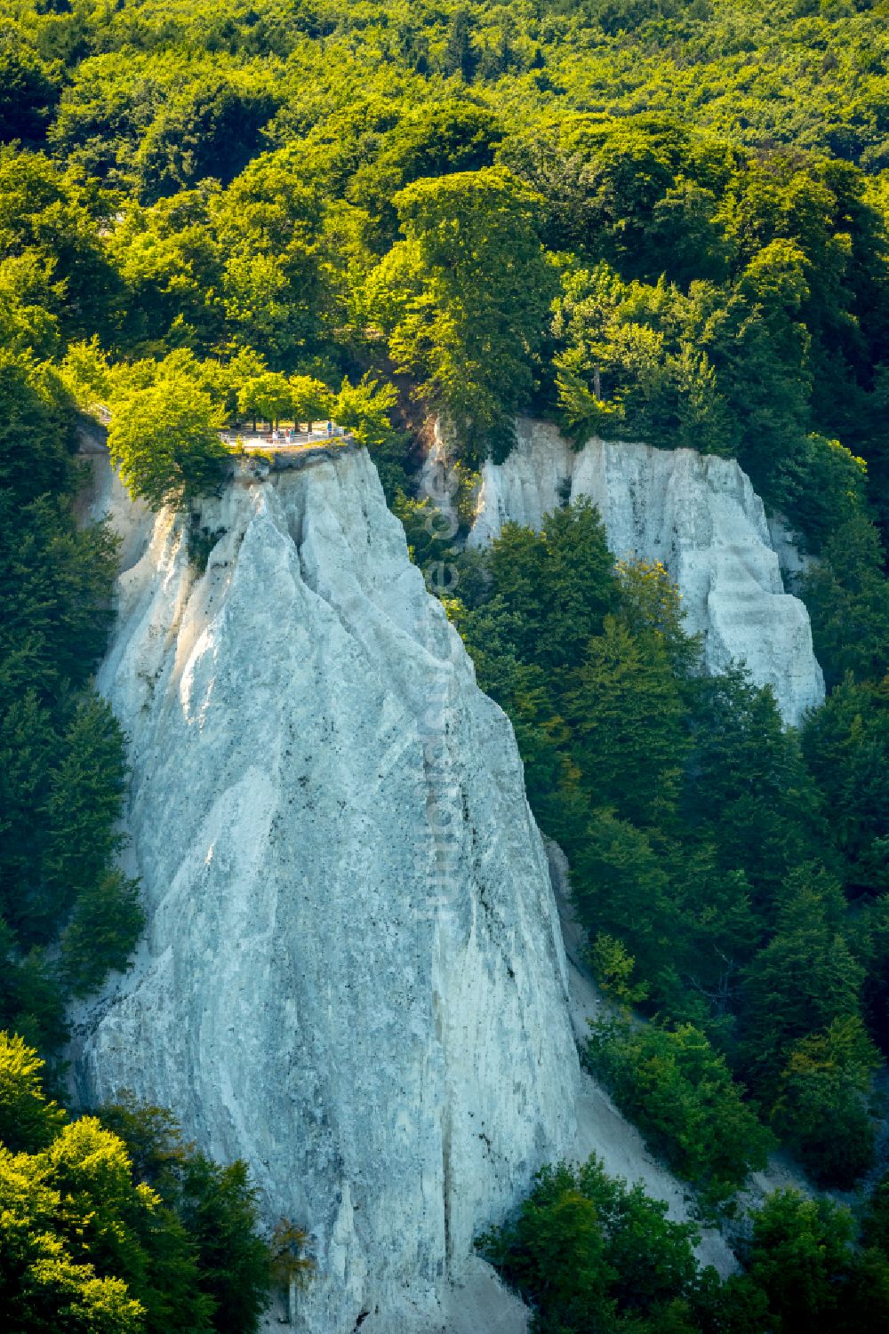
[[123, 738], [89, 688], [117, 544], [75, 524], [60, 379], [0, 352], [0, 1022], [55, 1051], [71, 990], [124, 967], [141, 924], [112, 870]]

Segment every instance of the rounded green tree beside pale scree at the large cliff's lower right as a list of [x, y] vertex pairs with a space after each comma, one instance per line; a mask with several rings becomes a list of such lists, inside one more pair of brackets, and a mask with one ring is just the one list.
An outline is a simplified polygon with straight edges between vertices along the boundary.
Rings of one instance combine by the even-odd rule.
[[725, 1203], [750, 1171], [765, 1167], [769, 1131], [693, 1025], [601, 1022], [586, 1055], [621, 1110], [707, 1205]]

